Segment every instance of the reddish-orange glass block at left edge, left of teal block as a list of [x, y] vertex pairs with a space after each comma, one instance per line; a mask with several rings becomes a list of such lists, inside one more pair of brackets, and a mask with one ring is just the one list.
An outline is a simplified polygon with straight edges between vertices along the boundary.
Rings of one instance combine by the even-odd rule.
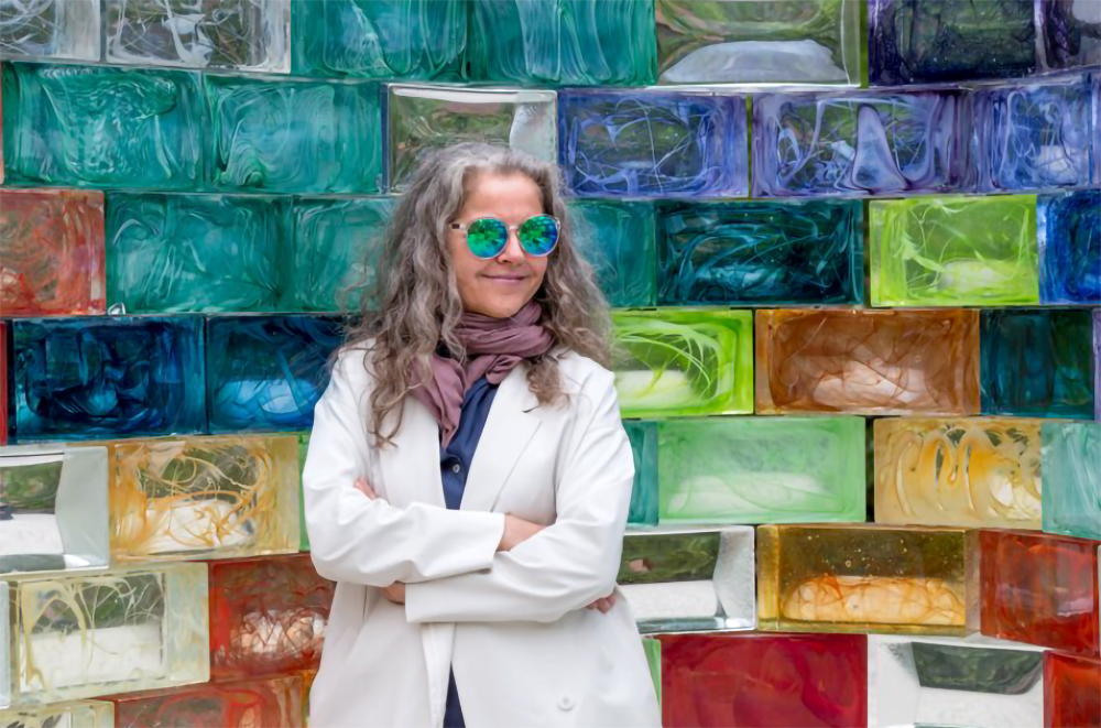
[[102, 314], [103, 196], [0, 191], [0, 315]]

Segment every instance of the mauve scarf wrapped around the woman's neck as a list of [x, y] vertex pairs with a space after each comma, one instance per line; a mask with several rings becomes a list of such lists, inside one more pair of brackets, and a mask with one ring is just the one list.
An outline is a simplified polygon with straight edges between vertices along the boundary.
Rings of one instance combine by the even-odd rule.
[[534, 301], [510, 318], [462, 314], [456, 334], [467, 348], [467, 366], [434, 354], [432, 379], [411, 390], [439, 423], [444, 447], [459, 428], [462, 398], [471, 384], [483, 376], [500, 384], [521, 361], [550, 349], [550, 334], [538, 324], [542, 315], [543, 307]]

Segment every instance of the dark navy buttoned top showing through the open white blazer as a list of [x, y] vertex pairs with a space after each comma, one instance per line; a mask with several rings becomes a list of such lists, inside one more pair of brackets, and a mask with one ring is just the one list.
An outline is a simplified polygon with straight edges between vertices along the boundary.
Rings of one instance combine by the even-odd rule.
[[[444, 502], [455, 510], [462, 502], [462, 491], [467, 487], [467, 471], [475, 458], [478, 441], [486, 428], [489, 409], [497, 395], [497, 384], [490, 384], [482, 377], [467, 390], [462, 398], [459, 428], [455, 431], [450, 444], [439, 448], [439, 474], [444, 480]], [[447, 683], [447, 705], [444, 709], [444, 728], [466, 728], [459, 693], [455, 687], [455, 672]]]

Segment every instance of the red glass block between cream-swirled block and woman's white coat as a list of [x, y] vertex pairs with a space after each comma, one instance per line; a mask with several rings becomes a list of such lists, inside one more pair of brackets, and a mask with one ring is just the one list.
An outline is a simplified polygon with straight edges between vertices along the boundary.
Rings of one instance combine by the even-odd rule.
[[211, 677], [317, 667], [335, 587], [309, 554], [212, 562]]

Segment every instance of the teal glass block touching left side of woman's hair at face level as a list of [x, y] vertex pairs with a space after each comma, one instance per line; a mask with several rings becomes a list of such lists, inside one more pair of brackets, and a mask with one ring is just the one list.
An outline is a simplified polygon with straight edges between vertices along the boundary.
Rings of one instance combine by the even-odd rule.
[[295, 198], [293, 272], [284, 275], [280, 307], [287, 312], [358, 311], [382, 263], [392, 197]]

